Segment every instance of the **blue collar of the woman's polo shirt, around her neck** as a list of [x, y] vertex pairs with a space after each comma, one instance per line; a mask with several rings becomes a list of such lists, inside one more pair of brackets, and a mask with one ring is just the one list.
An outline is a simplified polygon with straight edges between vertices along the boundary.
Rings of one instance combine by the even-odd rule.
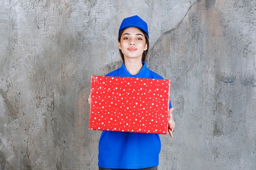
[[126, 67], [124, 66], [124, 62], [123, 62], [122, 66], [119, 68], [118, 74], [120, 77], [148, 78], [150, 70], [148, 69], [146, 62], [142, 62], [142, 64], [143, 64], [143, 66], [142, 66], [141, 70], [139, 71], [139, 73], [137, 73], [136, 75], [131, 75], [128, 72], [128, 70], [126, 69]]

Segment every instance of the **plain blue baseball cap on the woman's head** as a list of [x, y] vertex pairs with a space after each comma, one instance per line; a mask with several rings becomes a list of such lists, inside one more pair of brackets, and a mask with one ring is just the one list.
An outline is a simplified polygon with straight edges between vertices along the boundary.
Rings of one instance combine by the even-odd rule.
[[[125, 18], [123, 20], [123, 22], [121, 23], [121, 26], [119, 28], [119, 32], [122, 29], [126, 29], [128, 27], [136, 27], [138, 29], [141, 29], [142, 31], [144, 31], [148, 35], [148, 25], [144, 20], [139, 18], [138, 15], [135, 15], [135, 16], [132, 16], [132, 17], [129, 17], [129, 18]], [[148, 36], [148, 38], [149, 38], [149, 36]]]

